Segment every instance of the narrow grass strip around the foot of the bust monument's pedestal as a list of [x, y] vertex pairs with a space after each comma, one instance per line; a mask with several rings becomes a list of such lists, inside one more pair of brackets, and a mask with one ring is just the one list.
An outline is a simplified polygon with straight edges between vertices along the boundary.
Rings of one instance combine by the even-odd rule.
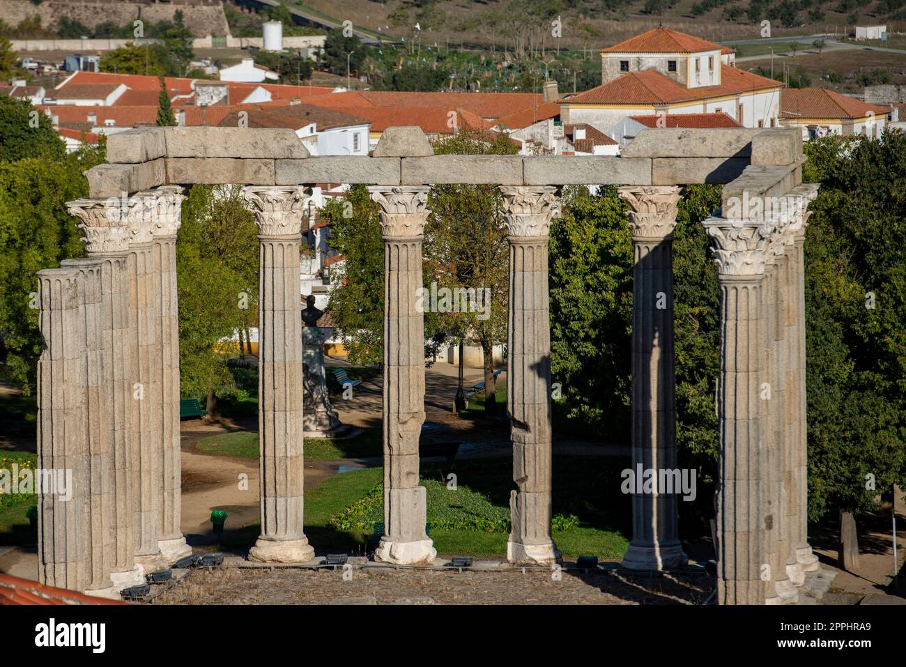
[[[245, 459], [258, 458], [258, 431], [237, 430], [207, 436], [195, 443], [203, 454], [232, 456]], [[381, 431], [363, 430], [355, 438], [334, 440], [333, 438], [306, 438], [305, 458], [316, 460], [366, 459], [381, 456]]]

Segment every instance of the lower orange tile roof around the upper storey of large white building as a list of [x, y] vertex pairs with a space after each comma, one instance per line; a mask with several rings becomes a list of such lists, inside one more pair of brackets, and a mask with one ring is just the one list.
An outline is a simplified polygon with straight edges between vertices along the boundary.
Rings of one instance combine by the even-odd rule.
[[687, 88], [656, 70], [642, 70], [617, 77], [589, 91], [570, 95], [560, 104], [659, 104], [693, 102], [708, 97], [781, 88], [783, 84], [764, 76], [722, 66], [718, 86]]

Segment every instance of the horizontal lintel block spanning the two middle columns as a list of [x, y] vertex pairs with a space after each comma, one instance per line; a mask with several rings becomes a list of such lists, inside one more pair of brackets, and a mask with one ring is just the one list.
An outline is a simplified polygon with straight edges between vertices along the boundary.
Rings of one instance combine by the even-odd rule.
[[496, 183], [522, 185], [521, 155], [432, 155], [403, 158], [400, 183]]

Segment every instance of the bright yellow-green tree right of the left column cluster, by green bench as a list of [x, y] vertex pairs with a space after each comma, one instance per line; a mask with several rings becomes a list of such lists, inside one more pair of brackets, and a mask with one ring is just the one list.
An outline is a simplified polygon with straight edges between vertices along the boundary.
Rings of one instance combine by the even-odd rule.
[[235, 391], [226, 365], [234, 353], [221, 343], [236, 330], [256, 325], [257, 227], [236, 186], [196, 185], [183, 202], [177, 237], [179, 383], [188, 395]]

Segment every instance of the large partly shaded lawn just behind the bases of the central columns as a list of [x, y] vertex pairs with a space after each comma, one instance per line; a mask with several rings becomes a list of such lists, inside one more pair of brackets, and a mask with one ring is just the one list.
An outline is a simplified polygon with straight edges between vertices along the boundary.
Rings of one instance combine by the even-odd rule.
[[[614, 458], [554, 457], [554, 517], [561, 517], [563, 526], [554, 530], [554, 541], [564, 556], [616, 560], [626, 551], [631, 497], [620, 492], [625, 464]], [[441, 481], [450, 472], [458, 478], [455, 490]], [[305, 534], [319, 552], [364, 553], [373, 522], [382, 519], [382, 478], [381, 468], [351, 470], [305, 494]], [[424, 465], [421, 484], [428, 489], [430, 536], [439, 553], [506, 556], [512, 461]], [[224, 544], [250, 546], [257, 534], [256, 523], [229, 530], [227, 522]]]

